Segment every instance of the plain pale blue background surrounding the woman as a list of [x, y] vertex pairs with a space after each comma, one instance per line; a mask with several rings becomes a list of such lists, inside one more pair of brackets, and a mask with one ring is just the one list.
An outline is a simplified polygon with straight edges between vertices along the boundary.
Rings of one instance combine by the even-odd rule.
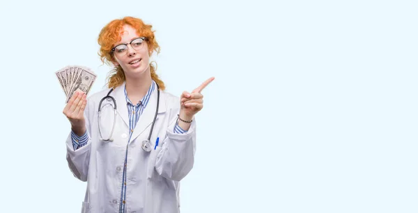
[[153, 24], [167, 91], [203, 80], [183, 213], [418, 212], [417, 1], [1, 1], [0, 212], [79, 212], [54, 72]]

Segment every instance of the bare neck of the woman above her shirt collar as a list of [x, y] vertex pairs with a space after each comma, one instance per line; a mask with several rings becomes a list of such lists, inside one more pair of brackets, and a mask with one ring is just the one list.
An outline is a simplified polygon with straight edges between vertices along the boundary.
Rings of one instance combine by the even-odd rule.
[[133, 104], [137, 104], [148, 92], [153, 79], [148, 71], [140, 78], [126, 78], [127, 97]]

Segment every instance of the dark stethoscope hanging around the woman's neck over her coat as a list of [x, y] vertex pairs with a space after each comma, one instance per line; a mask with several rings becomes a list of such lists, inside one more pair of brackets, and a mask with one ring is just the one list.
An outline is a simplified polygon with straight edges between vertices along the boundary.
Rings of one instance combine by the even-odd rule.
[[[104, 96], [102, 98], [102, 100], [100, 100], [100, 103], [99, 103], [99, 110], [98, 110], [99, 111], [99, 133], [100, 133], [100, 139], [102, 139], [102, 141], [104, 141], [104, 142], [113, 142], [113, 140], [114, 140], [111, 136], [113, 135], [115, 124], [116, 124], [116, 101], [115, 101], [114, 97], [110, 96], [110, 93], [112, 91], [113, 91], [113, 88], [111, 88], [109, 93], [107, 93], [107, 96]], [[113, 123], [113, 126], [111, 127], [111, 132], [110, 132], [109, 138], [107, 138], [107, 139], [103, 138], [102, 132], [100, 131], [100, 110], [102, 110], [102, 101], [104, 101], [104, 99], [107, 99], [107, 101], [113, 101], [113, 103], [114, 103], [114, 123]], [[157, 119], [158, 105], [159, 104], [160, 104], [160, 87], [157, 85], [157, 109], [155, 109], [155, 116], [154, 116], [154, 120], [153, 120], [153, 125], [151, 126], [150, 133], [148, 134], [148, 139], [144, 140], [141, 144], [142, 149], [144, 149], [144, 151], [146, 151], [146, 152], [151, 151], [150, 139], [151, 139], [151, 134], [153, 133], [155, 119]], [[106, 103], [105, 105], [111, 105], [111, 103]]]

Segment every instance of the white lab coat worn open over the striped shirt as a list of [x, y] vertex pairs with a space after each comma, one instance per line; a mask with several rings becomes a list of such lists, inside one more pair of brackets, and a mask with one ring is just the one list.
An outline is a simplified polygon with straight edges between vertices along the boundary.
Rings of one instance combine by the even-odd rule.
[[[100, 140], [98, 130], [98, 106], [109, 89], [88, 97], [84, 110], [87, 132], [91, 137], [88, 144], [74, 151], [71, 135], [67, 137], [70, 171], [79, 180], [87, 181], [86, 196], [80, 203], [83, 213], [110, 213], [119, 210], [123, 162], [130, 131], [124, 87], [125, 83], [111, 92], [117, 105], [113, 142]], [[102, 105], [105, 103], [110, 101], [104, 100]], [[174, 133], [180, 99], [164, 91], [160, 91], [159, 112], [150, 138], [152, 150], [147, 153], [141, 148], [141, 142], [148, 138], [156, 107], [157, 88], [139, 117], [127, 151], [125, 205], [126, 212], [129, 213], [180, 212], [179, 181], [189, 173], [194, 164], [196, 121], [192, 121], [187, 133]], [[101, 113], [101, 131], [103, 137], [107, 138], [114, 111], [104, 107]], [[160, 137], [160, 142], [154, 150], [157, 137]]]

